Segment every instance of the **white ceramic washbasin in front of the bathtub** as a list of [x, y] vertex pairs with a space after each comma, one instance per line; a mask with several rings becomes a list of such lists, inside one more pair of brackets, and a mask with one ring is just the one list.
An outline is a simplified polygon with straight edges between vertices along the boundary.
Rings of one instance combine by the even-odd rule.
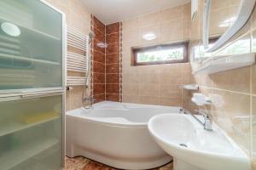
[[[148, 130], [163, 150], [177, 162], [174, 168], [204, 170], [250, 170], [246, 154], [216, 124], [205, 130], [192, 116], [164, 114], [152, 117]], [[177, 162], [174, 162], [177, 163]]]

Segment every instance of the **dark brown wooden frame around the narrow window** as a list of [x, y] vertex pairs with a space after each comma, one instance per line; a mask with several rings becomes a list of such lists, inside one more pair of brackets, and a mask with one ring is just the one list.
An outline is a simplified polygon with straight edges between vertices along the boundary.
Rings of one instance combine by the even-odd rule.
[[[164, 60], [164, 61], [150, 61], [150, 62], [137, 62], [137, 53], [145, 51], [154, 51], [155, 48], [162, 49], [172, 49], [172, 48], [183, 48], [183, 59], [173, 59], [173, 60]], [[169, 44], [160, 44], [144, 48], [131, 48], [131, 64], [134, 66], [137, 65], [163, 65], [163, 64], [173, 64], [173, 63], [187, 63], [189, 62], [189, 42], [178, 42], [178, 43], [169, 43]]]

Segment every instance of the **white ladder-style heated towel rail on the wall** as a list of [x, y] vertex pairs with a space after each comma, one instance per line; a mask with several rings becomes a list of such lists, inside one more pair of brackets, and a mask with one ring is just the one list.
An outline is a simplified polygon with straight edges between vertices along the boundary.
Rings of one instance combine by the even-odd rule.
[[89, 74], [89, 37], [69, 27], [67, 28], [67, 45], [83, 52], [83, 54], [67, 52], [67, 71], [84, 73], [84, 77], [67, 76], [67, 86], [84, 85], [86, 82], [86, 74]]

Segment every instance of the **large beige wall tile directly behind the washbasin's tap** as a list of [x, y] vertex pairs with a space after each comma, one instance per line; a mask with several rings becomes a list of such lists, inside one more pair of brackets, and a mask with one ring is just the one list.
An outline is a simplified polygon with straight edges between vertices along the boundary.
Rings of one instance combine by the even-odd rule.
[[[250, 96], [212, 90], [212, 116], [250, 154]], [[247, 118], [246, 118], [247, 117]]]

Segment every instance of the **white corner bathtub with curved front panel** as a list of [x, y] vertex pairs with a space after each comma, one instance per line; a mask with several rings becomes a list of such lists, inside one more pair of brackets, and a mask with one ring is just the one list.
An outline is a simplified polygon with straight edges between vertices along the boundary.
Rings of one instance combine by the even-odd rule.
[[68, 111], [66, 155], [85, 156], [120, 169], [160, 167], [172, 157], [148, 133], [150, 117], [180, 108], [101, 102], [93, 109]]

